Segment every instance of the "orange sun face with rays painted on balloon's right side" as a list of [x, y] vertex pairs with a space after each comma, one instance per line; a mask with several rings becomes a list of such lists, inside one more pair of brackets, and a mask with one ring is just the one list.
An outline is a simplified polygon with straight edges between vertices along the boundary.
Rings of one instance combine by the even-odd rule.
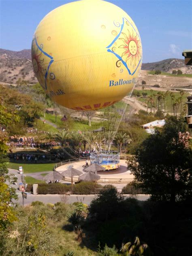
[[122, 33], [123, 38], [119, 38], [119, 40], [123, 41], [123, 45], [120, 45], [119, 48], [124, 49], [122, 53], [122, 58], [126, 58], [125, 62], [130, 62], [130, 65], [133, 67], [139, 62], [141, 58], [141, 45], [140, 40], [134, 30], [132, 33], [127, 30], [128, 33]]

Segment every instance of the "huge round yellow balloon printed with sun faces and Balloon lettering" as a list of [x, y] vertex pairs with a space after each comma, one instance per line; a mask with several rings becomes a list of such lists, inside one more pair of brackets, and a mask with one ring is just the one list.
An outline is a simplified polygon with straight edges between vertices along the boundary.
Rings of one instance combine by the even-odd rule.
[[75, 110], [96, 110], [132, 92], [142, 62], [132, 19], [101, 0], [64, 4], [39, 23], [32, 63], [51, 99]]

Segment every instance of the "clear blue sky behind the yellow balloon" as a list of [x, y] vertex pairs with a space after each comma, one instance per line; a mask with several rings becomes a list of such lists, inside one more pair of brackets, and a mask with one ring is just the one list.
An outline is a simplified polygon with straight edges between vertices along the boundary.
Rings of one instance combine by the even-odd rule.
[[[30, 49], [38, 23], [71, 0], [0, 0], [0, 48]], [[108, 0], [136, 24], [143, 46], [143, 63], [183, 58], [192, 49], [191, 0]]]

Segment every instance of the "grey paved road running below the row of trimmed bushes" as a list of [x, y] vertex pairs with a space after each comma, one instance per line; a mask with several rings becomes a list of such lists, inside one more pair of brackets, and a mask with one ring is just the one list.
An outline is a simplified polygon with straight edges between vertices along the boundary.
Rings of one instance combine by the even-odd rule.
[[[129, 195], [125, 195], [129, 197]], [[63, 196], [63, 195], [33, 195], [28, 194], [27, 199], [24, 199], [24, 205], [29, 205], [30, 203], [34, 201], [41, 201], [43, 203], [52, 203], [55, 204], [57, 202], [65, 202], [65, 203], [74, 203], [77, 201], [82, 201], [83, 203], [89, 205], [91, 201], [96, 198], [95, 195], [70, 195], [70, 196]], [[140, 201], [146, 201], [149, 198], [149, 195], [142, 195], [139, 194], [137, 196], [137, 199]], [[19, 205], [22, 205], [22, 195], [18, 194], [18, 201]]]

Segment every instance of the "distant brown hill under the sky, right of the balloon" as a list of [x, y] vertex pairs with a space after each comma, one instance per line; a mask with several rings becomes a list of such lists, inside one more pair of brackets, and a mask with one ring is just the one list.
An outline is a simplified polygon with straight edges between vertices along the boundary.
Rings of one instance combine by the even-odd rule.
[[180, 69], [183, 74], [191, 74], [192, 66], [186, 66], [184, 59], [167, 59], [158, 62], [143, 63], [142, 70], [161, 70], [164, 72], [172, 73], [172, 70]]

